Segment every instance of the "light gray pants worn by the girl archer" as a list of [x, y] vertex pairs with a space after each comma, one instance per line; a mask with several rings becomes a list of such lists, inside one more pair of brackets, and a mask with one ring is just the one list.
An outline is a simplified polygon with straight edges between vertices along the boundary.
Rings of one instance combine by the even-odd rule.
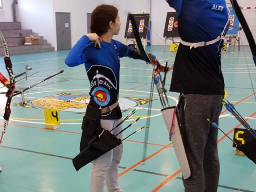
[[[104, 120], [101, 119], [101, 127], [105, 130], [111, 130], [122, 119]], [[122, 130], [122, 124], [118, 126], [112, 134], [117, 134]], [[117, 136], [122, 139], [122, 133]], [[90, 178], [90, 192], [104, 192], [104, 182], [106, 181], [108, 192], [120, 192], [118, 185], [118, 165], [123, 154], [123, 144], [115, 147], [96, 160], [93, 160], [93, 167]]]

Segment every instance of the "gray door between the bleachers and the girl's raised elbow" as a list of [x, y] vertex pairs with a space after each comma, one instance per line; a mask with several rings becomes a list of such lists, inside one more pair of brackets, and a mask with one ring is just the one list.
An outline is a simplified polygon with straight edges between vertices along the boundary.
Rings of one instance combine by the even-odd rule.
[[71, 49], [70, 13], [55, 13], [57, 50]]

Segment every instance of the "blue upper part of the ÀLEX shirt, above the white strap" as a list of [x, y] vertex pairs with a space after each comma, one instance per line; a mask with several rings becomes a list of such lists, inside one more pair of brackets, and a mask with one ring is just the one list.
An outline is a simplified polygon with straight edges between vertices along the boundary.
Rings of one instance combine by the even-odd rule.
[[168, 0], [178, 14], [179, 33], [186, 42], [216, 39], [228, 21], [225, 0]]

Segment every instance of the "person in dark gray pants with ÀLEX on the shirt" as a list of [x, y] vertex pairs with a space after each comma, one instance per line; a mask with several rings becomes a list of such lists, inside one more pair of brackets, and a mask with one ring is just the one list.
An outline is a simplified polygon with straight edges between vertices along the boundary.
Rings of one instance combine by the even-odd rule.
[[181, 42], [170, 91], [179, 92], [183, 142], [191, 169], [185, 192], [217, 192], [218, 124], [224, 98], [223, 38], [229, 27], [225, 0], [166, 0], [178, 14]]

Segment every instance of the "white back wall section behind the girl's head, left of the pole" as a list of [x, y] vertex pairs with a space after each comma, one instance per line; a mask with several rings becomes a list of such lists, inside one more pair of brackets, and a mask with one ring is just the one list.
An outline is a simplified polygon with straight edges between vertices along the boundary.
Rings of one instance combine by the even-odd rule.
[[121, 30], [119, 35], [114, 36], [114, 38], [123, 43], [125, 43], [124, 35], [128, 11], [132, 13], [143, 13], [143, 11], [148, 11], [148, 0], [140, 0], [139, 6], [137, 6], [136, 1], [131, 2], [124, 0], [65, 0], [65, 3], [63, 3], [63, 0], [53, 0], [54, 13], [71, 13], [72, 45], [74, 45], [83, 34], [87, 33], [87, 13], [92, 13], [94, 8], [100, 4], [111, 4], [118, 8], [121, 20]]

